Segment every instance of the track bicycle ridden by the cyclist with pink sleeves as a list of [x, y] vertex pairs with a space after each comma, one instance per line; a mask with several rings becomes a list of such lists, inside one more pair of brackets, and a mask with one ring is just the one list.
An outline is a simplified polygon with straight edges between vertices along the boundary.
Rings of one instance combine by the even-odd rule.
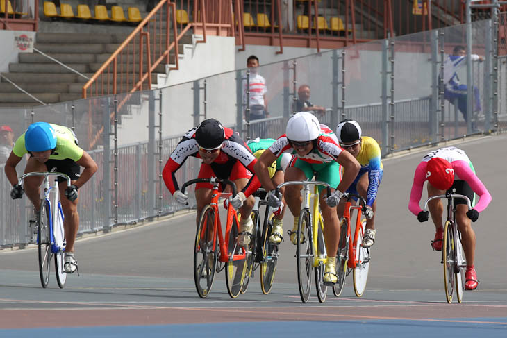
[[456, 298], [458, 303], [463, 301], [463, 290], [465, 289], [465, 252], [461, 245], [461, 233], [456, 224], [456, 207], [454, 198], [463, 198], [467, 202], [468, 210], [472, 209], [470, 199], [461, 194], [438, 195], [430, 197], [424, 203], [424, 211], [428, 208], [428, 202], [433, 199], [447, 199], [447, 221], [444, 226], [444, 242], [442, 245], [442, 264], [444, 264], [444, 289], [447, 303], [452, 302], [454, 282], [456, 281]]

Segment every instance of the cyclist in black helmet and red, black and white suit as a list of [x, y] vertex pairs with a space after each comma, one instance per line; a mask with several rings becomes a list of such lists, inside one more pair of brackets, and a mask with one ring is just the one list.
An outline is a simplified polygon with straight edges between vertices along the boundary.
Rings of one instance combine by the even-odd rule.
[[[234, 208], [242, 215], [240, 221], [240, 245], [250, 243], [253, 222], [249, 215], [255, 202], [250, 196], [260, 187], [260, 182], [253, 173], [256, 158], [246, 144], [232, 129], [226, 128], [216, 119], [206, 119], [199, 126], [189, 130], [172, 152], [162, 172], [167, 189], [178, 203], [185, 205], [188, 196], [180, 192], [174, 174], [183, 165], [188, 156], [202, 159], [198, 178], [228, 178], [238, 187], [238, 194], [231, 199]], [[211, 201], [210, 183], [197, 183], [195, 198], [197, 200], [197, 218], [201, 210]], [[199, 221], [199, 219], [197, 219]]]

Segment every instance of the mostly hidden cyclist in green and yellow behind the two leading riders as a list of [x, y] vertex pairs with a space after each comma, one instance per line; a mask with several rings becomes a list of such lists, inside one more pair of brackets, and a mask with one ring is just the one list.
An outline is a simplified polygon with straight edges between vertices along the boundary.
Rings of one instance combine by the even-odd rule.
[[[274, 139], [260, 139], [257, 137], [256, 139], [248, 140], [247, 146], [249, 146], [251, 152], [256, 158], [260, 158], [260, 155], [262, 155], [266, 149], [272, 146], [275, 141], [276, 140]], [[282, 153], [278, 158], [276, 158], [276, 161], [267, 167], [267, 170], [269, 171], [269, 178], [271, 178], [274, 186], [283, 183], [283, 173], [288, 167], [291, 158], [292, 155], [290, 153]], [[285, 214], [285, 204], [282, 202], [278, 208], [274, 208], [273, 213], [273, 228], [271, 234], [269, 235], [269, 242], [272, 242], [273, 244], [279, 244], [283, 240], [282, 226], [283, 214]]]

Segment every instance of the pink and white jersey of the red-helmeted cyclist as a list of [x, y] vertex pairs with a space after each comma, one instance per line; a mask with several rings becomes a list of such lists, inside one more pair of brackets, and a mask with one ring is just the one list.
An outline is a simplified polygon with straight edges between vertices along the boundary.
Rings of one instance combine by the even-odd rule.
[[479, 180], [479, 177], [476, 176], [474, 166], [465, 151], [454, 146], [448, 146], [426, 154], [422, 158], [422, 162], [415, 169], [414, 183], [410, 191], [410, 201], [408, 202], [410, 212], [416, 216], [419, 212], [422, 212], [422, 209], [419, 207], [419, 201], [421, 200], [424, 181], [426, 181], [426, 165], [432, 158], [447, 160], [454, 169], [454, 180], [464, 180], [474, 190], [474, 193], [479, 195], [479, 203], [474, 206], [477, 212], [483, 211], [490, 204], [491, 195], [481, 180]]

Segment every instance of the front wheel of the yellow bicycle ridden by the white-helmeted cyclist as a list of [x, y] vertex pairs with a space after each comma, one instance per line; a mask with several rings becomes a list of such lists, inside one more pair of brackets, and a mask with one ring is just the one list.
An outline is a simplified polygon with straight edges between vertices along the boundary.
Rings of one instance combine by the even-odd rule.
[[306, 209], [299, 214], [297, 226], [297, 282], [299, 285], [299, 296], [303, 303], [310, 298], [310, 287], [312, 285], [311, 273], [313, 269], [313, 245], [312, 230], [310, 223], [310, 212]]

